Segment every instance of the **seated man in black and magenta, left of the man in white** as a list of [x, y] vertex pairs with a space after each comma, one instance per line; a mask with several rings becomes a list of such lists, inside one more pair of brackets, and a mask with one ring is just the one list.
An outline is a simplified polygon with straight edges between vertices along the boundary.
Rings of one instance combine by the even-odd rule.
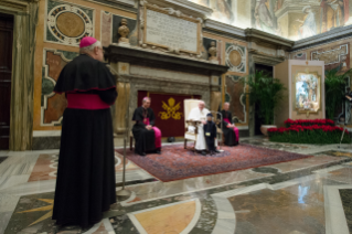
[[150, 107], [150, 98], [145, 97], [142, 106], [138, 107], [132, 120], [136, 121], [132, 128], [136, 139], [136, 153], [146, 156], [147, 152], [160, 153], [161, 150], [161, 131], [154, 127], [156, 116]]

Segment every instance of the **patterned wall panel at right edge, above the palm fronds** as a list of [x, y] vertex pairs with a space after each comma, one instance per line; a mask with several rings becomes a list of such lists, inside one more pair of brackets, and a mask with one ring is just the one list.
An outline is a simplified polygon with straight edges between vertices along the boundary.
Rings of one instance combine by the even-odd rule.
[[350, 43], [322, 47], [311, 51], [312, 61], [324, 61], [326, 70], [332, 70], [342, 64], [342, 71], [350, 70]]

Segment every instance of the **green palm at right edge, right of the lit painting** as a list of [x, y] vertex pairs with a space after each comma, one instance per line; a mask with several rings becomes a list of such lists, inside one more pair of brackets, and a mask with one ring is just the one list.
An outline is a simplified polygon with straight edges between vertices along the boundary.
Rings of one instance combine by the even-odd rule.
[[[326, 114], [327, 118], [333, 120], [338, 108], [344, 100], [346, 76], [352, 74], [352, 70], [342, 74], [342, 64], [337, 68], [326, 71]], [[328, 102], [329, 100], [329, 102]]]

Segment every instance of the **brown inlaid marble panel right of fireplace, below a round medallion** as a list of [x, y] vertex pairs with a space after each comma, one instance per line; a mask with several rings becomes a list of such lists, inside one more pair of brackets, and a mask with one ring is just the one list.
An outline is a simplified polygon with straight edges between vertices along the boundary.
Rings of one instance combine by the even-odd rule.
[[247, 124], [246, 92], [242, 82], [243, 78], [235, 75], [226, 76], [225, 100], [230, 103], [233, 120], [235, 123]]

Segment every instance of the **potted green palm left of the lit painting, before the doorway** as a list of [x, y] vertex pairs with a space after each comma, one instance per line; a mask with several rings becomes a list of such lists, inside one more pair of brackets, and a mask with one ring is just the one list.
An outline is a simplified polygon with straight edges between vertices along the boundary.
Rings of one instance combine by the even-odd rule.
[[260, 131], [267, 136], [268, 128], [275, 128], [274, 110], [284, 98], [284, 84], [278, 78], [273, 78], [263, 72], [248, 75], [244, 81], [248, 85], [250, 105], [257, 104], [256, 115], [262, 120]]

